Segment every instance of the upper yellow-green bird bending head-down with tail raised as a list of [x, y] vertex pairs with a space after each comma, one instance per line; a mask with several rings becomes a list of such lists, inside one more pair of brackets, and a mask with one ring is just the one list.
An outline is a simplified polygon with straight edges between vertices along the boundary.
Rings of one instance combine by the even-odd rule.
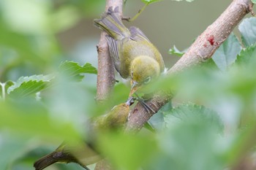
[[114, 10], [110, 7], [101, 19], [94, 20], [94, 24], [108, 33], [106, 38], [110, 57], [117, 72], [124, 79], [132, 79], [129, 96], [155, 80], [165, 70], [157, 47], [139, 28], [126, 28], [118, 15], [117, 7]]

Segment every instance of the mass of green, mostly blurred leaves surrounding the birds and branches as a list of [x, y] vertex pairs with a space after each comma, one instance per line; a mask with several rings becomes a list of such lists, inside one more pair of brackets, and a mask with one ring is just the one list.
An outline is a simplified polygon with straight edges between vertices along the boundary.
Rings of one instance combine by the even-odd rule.
[[[34, 169], [34, 161], [62, 141], [86, 139], [89, 117], [127, 99], [129, 88], [119, 82], [107, 106], [95, 104], [90, 83], [97, 69], [66, 61], [56, 39], [82, 18], [102, 13], [103, 2], [0, 1], [0, 169]], [[245, 19], [238, 27], [242, 42], [231, 34], [213, 60], [152, 85], [177, 92], [149, 120], [156, 133], [104, 134], [97, 144], [102, 154], [127, 170], [215, 170], [253, 159], [255, 27], [255, 18]], [[171, 53], [183, 52], [173, 47]], [[50, 169], [82, 168], [70, 163]]]

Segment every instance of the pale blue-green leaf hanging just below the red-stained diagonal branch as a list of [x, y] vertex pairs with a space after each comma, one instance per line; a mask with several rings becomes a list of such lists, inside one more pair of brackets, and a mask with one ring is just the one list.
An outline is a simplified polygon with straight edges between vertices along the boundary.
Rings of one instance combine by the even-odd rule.
[[241, 51], [241, 45], [232, 33], [212, 56], [220, 70], [225, 71], [236, 61], [236, 56]]

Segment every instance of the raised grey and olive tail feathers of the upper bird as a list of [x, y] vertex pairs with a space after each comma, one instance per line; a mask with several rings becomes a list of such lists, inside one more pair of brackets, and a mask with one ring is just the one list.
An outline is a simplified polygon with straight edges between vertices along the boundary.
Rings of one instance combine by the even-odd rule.
[[114, 10], [110, 7], [101, 19], [94, 20], [94, 25], [102, 28], [114, 39], [122, 39], [130, 35], [128, 28], [124, 26], [118, 15], [118, 7]]

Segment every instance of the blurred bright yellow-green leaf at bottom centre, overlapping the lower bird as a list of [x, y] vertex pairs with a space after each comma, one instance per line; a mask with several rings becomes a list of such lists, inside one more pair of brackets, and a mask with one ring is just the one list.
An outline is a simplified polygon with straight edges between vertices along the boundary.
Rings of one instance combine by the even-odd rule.
[[[105, 133], [100, 136], [99, 149], [118, 169], [139, 169], [154, 158], [157, 143], [152, 135]], [[135, 154], [136, 153], [136, 154]]]

